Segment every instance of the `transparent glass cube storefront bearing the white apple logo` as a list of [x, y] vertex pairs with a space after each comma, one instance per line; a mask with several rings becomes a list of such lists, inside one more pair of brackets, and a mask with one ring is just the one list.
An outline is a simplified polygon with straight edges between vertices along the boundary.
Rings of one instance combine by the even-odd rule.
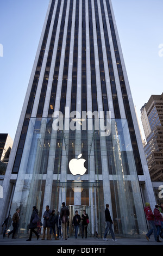
[[76, 208], [85, 208], [89, 235], [102, 237], [105, 204], [116, 235], [147, 230], [127, 120], [106, 122], [30, 118], [10, 210], [12, 216], [21, 209], [18, 236], [28, 236], [34, 205], [43, 222], [46, 205], [57, 214], [62, 202], [70, 208], [71, 235]]

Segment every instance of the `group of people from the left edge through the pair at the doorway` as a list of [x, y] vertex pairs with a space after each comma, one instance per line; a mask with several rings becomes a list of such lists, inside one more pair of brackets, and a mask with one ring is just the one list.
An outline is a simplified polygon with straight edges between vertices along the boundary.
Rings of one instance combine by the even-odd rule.
[[[37, 239], [39, 239], [39, 236], [41, 234], [41, 228], [43, 227], [43, 233], [42, 233], [42, 240], [45, 240], [46, 237], [46, 230], [47, 230], [47, 240], [51, 240], [52, 234], [54, 235], [54, 239], [58, 240], [60, 237], [62, 240], [67, 240], [68, 237], [68, 228], [69, 228], [69, 219], [68, 216], [70, 215], [70, 211], [68, 207], [65, 205], [65, 202], [62, 203], [62, 208], [60, 212], [58, 211], [58, 214], [55, 214], [55, 210], [49, 209], [49, 205], [46, 205], [46, 210], [43, 213], [43, 223], [40, 220], [39, 217], [39, 211], [36, 209], [36, 206], [33, 206], [32, 215], [30, 217], [30, 223], [27, 226], [27, 229], [29, 230], [29, 239], [27, 241], [32, 240], [33, 233], [36, 235]], [[75, 212], [75, 215], [73, 217], [72, 225], [74, 227], [74, 234], [77, 238], [78, 234], [78, 228], [80, 221], [82, 222], [82, 238], [84, 236], [84, 230], [85, 230], [85, 238], [87, 238], [87, 225], [89, 223], [89, 216], [86, 214], [86, 211], [83, 210], [82, 217], [78, 215], [78, 211]], [[10, 225], [12, 223], [13, 229], [7, 234], [8, 238], [12, 234], [12, 239], [15, 239], [15, 235], [18, 230], [18, 225], [20, 223], [20, 209], [16, 209], [15, 214], [12, 216], [9, 215], [8, 218], [5, 219], [5, 221], [2, 224], [3, 229], [3, 238], [5, 237], [5, 234], [7, 230], [9, 229]], [[57, 231], [55, 230], [57, 228]], [[62, 233], [61, 233], [62, 231]]]

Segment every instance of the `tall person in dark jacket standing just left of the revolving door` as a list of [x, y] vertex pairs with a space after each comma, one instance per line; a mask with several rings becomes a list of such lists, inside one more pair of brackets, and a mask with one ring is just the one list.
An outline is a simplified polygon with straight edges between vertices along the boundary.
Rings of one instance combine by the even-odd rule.
[[65, 205], [65, 202], [62, 203], [62, 208], [60, 210], [60, 217], [62, 222], [62, 240], [67, 240], [67, 221], [70, 211]]

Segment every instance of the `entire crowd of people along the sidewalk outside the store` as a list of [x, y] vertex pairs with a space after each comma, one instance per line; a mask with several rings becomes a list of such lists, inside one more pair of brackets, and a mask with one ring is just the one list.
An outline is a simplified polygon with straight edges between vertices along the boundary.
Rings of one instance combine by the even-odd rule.
[[[149, 203], [145, 204], [144, 208], [147, 221], [149, 223], [149, 231], [146, 234], [146, 239], [149, 241], [152, 234], [154, 234], [154, 239], [156, 242], [161, 242], [161, 239], [163, 239], [163, 203], [160, 205], [155, 205], [154, 211], [152, 211], [151, 206]], [[65, 202], [62, 203], [62, 208], [60, 212], [58, 211], [58, 214], [55, 215], [55, 210], [50, 210], [49, 206], [46, 206], [46, 210], [43, 214], [43, 223], [41, 223], [40, 217], [38, 216], [39, 211], [36, 209], [36, 206], [33, 206], [32, 215], [30, 217], [30, 223], [28, 225], [29, 231], [29, 239], [27, 241], [32, 240], [32, 234], [34, 233], [39, 239], [40, 233], [41, 233], [41, 227], [43, 226], [43, 235], [42, 240], [45, 240], [46, 237], [46, 230], [47, 230], [47, 239], [51, 240], [52, 234], [54, 235], [54, 239], [58, 240], [59, 237], [62, 237], [62, 240], [67, 240], [68, 238], [68, 226], [69, 226], [69, 220], [68, 216], [70, 215], [70, 211], [68, 207], [65, 205]], [[87, 238], [87, 225], [89, 224], [89, 216], [86, 214], [86, 211], [83, 210], [82, 217], [78, 214], [78, 210], [76, 210], [75, 215], [73, 216], [72, 220], [72, 226], [74, 228], [74, 236], [77, 239], [78, 237], [78, 229], [80, 225], [80, 222], [82, 221], [82, 238], [84, 237], [84, 230], [85, 230], [85, 238]], [[5, 221], [2, 224], [3, 229], [3, 238], [5, 237], [5, 233], [7, 229], [10, 227], [11, 223], [13, 226], [13, 229], [7, 234], [9, 237], [12, 234], [12, 239], [15, 239], [15, 234], [18, 229], [18, 224], [20, 222], [20, 209], [16, 209], [15, 214], [12, 216], [9, 215], [8, 218], [5, 219]], [[105, 209], [105, 222], [106, 222], [106, 228], [104, 232], [103, 239], [107, 241], [106, 236], [108, 232], [111, 234], [112, 240], [116, 241], [114, 231], [112, 229], [113, 221], [110, 216], [109, 211], [109, 204], [106, 204]], [[57, 227], [57, 232], [55, 228]], [[62, 230], [62, 234], [61, 234]], [[62, 235], [62, 236], [61, 236]]]

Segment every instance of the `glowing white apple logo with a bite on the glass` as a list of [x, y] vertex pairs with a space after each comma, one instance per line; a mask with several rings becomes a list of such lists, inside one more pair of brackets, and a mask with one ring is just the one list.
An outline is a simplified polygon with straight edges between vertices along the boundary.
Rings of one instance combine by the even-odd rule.
[[84, 167], [85, 159], [80, 159], [82, 154], [78, 155], [78, 159], [72, 159], [69, 162], [69, 169], [72, 175], [84, 175], [86, 172], [86, 168]]

